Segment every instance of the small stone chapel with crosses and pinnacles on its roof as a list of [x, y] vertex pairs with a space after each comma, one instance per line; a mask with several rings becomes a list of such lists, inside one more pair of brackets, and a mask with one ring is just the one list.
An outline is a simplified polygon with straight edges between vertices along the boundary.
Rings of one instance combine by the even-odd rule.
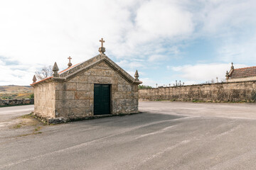
[[[33, 77], [34, 115], [46, 123], [102, 115], [138, 113], [139, 74], [131, 77], [105, 55], [103, 39], [100, 55], [58, 72], [53, 65], [53, 76], [36, 81]], [[70, 57], [68, 58], [71, 59]]]

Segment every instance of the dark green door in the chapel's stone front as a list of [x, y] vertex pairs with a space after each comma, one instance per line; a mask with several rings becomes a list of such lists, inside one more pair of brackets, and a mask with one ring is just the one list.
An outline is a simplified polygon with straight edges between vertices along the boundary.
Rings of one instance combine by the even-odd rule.
[[110, 84], [94, 85], [94, 115], [110, 114]]

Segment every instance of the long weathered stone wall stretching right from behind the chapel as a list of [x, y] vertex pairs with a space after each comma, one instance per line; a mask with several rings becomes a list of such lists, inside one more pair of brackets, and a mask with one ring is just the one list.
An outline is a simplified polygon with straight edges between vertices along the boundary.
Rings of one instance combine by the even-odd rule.
[[238, 102], [252, 100], [256, 81], [139, 89], [140, 101]]

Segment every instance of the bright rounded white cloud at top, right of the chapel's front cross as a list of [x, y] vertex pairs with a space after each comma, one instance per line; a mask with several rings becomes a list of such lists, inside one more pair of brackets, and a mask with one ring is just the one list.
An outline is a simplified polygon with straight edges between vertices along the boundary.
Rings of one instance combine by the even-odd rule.
[[138, 9], [135, 21], [136, 28], [130, 36], [137, 42], [189, 35], [193, 32], [192, 14], [174, 1], [145, 1]]

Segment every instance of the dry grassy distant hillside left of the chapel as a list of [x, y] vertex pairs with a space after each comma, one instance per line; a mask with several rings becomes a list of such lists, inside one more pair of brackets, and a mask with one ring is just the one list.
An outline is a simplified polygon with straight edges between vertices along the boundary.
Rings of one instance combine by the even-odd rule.
[[33, 94], [33, 87], [31, 86], [0, 86], [0, 99], [29, 98], [31, 94]]

